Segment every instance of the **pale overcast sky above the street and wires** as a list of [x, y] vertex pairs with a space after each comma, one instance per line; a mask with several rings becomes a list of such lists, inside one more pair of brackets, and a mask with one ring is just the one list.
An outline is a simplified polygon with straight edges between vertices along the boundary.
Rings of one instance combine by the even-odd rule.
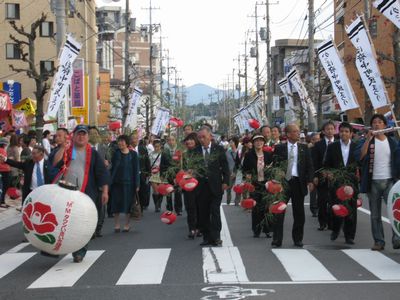
[[[125, 7], [125, 1], [96, 0], [96, 4]], [[149, 3], [150, 0], [130, 0], [137, 25], [149, 23], [149, 11], [143, 9]], [[255, 40], [255, 18], [252, 17], [255, 3], [253, 0], [152, 0], [152, 6], [159, 8], [153, 11], [153, 23], [162, 26], [163, 48], [169, 49], [171, 64], [178, 68], [183, 84], [204, 83], [222, 88], [228, 75], [232, 77], [233, 68], [235, 72], [238, 69], [234, 59], [239, 52], [244, 54], [245, 33], [253, 31], [249, 32], [249, 39]], [[314, 7], [319, 26], [316, 38], [326, 39], [333, 35], [333, 0], [315, 0]], [[265, 14], [265, 5], [258, 5], [258, 27], [265, 27]], [[278, 4], [270, 5], [271, 46], [276, 39], [306, 38], [307, 14], [307, 0], [279, 0]], [[259, 52], [261, 75], [265, 77], [265, 42], [260, 42]], [[248, 74], [253, 85], [255, 59], [250, 60]]]

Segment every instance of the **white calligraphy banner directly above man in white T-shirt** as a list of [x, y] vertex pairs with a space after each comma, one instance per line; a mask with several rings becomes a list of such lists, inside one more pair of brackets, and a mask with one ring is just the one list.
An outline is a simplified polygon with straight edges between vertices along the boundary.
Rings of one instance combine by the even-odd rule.
[[375, 50], [365, 30], [364, 20], [358, 17], [346, 28], [346, 32], [356, 48], [356, 67], [372, 106], [378, 109], [388, 105], [390, 101], [376, 62]]

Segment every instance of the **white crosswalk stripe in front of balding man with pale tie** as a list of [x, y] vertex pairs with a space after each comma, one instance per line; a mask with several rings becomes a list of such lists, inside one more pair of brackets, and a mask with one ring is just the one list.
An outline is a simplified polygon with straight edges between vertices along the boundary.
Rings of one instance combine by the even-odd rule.
[[309, 251], [272, 249], [293, 281], [337, 280]]

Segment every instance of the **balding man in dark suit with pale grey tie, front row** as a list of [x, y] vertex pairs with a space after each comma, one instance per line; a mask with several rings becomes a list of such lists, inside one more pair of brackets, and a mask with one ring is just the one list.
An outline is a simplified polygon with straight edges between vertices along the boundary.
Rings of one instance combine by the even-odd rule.
[[[300, 129], [297, 125], [290, 124], [286, 127], [288, 142], [275, 146], [273, 160], [275, 163], [287, 161], [285, 180], [288, 181], [287, 198], [292, 200], [293, 227], [292, 239], [296, 247], [303, 247], [304, 233], [304, 197], [313, 190], [313, 164], [310, 150], [306, 144], [298, 143]], [[283, 221], [285, 213], [274, 216], [274, 234], [272, 247], [282, 246]]]

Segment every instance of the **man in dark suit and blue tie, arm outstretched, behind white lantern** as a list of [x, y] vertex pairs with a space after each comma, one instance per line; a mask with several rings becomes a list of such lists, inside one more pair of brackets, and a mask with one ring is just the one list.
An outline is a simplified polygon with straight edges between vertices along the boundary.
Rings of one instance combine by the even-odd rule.
[[[26, 196], [35, 188], [51, 183], [55, 174], [53, 168], [47, 160], [44, 159], [45, 150], [42, 146], [34, 146], [32, 157], [24, 162], [7, 159], [0, 156], [0, 162], [5, 162], [11, 167], [24, 171], [24, 185], [22, 187], [22, 201], [25, 201]], [[22, 202], [23, 204], [23, 202]]]

